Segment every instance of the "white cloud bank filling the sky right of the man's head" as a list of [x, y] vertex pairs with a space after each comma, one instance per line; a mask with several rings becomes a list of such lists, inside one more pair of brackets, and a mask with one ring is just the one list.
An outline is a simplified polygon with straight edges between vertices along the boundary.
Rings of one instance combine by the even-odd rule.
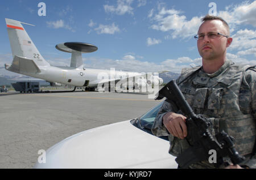
[[[256, 1], [242, 2], [240, 5], [231, 5], [226, 7], [226, 11], [220, 11], [219, 16], [228, 22], [233, 35], [233, 42], [230, 45], [230, 50], [236, 50], [238, 56], [237, 62], [247, 62], [246, 59], [240, 56], [254, 54], [256, 49], [256, 31], [253, 29], [241, 29], [242, 25], [252, 25], [256, 27]], [[236, 29], [239, 29], [236, 32]]]

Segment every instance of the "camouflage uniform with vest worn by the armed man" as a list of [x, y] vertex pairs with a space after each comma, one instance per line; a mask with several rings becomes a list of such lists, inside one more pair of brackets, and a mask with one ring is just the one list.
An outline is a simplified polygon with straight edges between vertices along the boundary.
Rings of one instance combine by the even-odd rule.
[[[249, 156], [255, 143], [256, 119], [256, 68], [237, 66], [226, 60], [213, 74], [206, 74], [202, 67], [185, 68], [176, 80], [181, 92], [196, 114], [209, 118], [213, 134], [224, 130], [235, 140], [237, 151]], [[163, 116], [177, 111], [169, 102], [164, 101], [155, 118], [152, 132], [156, 136], [169, 136], [169, 153], [180, 155], [189, 147], [187, 140], [170, 135], [163, 125]], [[256, 168], [256, 156], [241, 165]], [[192, 164], [189, 168], [214, 168], [208, 161]]]

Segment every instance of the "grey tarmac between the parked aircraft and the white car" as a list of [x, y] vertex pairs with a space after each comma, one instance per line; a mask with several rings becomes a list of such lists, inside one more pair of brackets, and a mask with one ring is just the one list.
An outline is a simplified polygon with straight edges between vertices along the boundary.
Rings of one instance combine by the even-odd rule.
[[140, 93], [0, 93], [0, 168], [30, 169], [38, 151], [90, 128], [138, 118], [160, 101]]

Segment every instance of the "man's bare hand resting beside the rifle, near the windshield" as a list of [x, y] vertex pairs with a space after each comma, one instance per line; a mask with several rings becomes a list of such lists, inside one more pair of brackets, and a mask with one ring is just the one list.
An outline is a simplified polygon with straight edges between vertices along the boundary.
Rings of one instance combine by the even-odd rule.
[[187, 118], [182, 114], [168, 112], [163, 117], [163, 124], [171, 135], [184, 139], [187, 136], [187, 125], [185, 123], [185, 119]]

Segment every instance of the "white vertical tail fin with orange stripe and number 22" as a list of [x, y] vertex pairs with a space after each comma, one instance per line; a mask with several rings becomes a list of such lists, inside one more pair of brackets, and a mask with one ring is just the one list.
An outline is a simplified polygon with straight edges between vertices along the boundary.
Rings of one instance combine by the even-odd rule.
[[7, 18], [5, 20], [14, 60], [16, 56], [22, 57], [24, 59], [30, 59], [35, 63], [36, 66], [50, 66], [49, 63], [39, 53], [38, 49], [31, 41], [31, 38], [28, 36], [27, 32], [22, 26], [22, 24], [32, 24], [22, 23], [17, 20]]

